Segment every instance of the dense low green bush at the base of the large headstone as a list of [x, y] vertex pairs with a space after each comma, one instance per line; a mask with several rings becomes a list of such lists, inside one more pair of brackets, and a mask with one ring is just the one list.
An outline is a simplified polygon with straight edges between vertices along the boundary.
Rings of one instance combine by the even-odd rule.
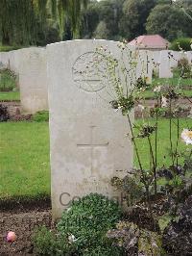
[[63, 237], [74, 236], [78, 252], [87, 255], [111, 245], [106, 234], [119, 218], [121, 211], [114, 201], [91, 193], [72, 202], [71, 208], [62, 214], [58, 230]]

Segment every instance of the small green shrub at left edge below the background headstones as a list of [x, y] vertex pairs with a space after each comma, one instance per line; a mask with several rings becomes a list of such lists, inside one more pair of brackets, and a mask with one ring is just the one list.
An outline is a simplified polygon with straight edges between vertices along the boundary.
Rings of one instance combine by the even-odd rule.
[[0, 91], [11, 91], [16, 88], [16, 75], [8, 68], [0, 69]]

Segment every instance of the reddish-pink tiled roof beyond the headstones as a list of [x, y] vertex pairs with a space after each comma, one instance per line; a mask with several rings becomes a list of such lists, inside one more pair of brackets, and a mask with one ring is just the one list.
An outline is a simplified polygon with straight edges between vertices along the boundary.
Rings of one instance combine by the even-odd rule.
[[159, 35], [140, 36], [129, 42], [131, 45], [137, 45], [142, 48], [166, 48], [169, 41]]

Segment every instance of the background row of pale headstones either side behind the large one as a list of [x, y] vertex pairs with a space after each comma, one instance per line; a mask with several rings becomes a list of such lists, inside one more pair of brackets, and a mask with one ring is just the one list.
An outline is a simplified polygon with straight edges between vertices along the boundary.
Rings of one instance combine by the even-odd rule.
[[[48, 110], [46, 48], [31, 47], [0, 53], [0, 68], [6, 66], [18, 75], [22, 110], [29, 114]], [[173, 67], [185, 58], [191, 64], [192, 52], [139, 51], [137, 78], [148, 77], [152, 82], [153, 70], [159, 78], [173, 77]]]

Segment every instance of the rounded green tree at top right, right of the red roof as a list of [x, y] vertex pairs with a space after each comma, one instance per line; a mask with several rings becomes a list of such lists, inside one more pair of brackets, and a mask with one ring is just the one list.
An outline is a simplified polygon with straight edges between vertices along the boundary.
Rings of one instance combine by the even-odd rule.
[[146, 29], [148, 34], [173, 40], [179, 37], [191, 37], [191, 23], [182, 9], [170, 4], [159, 4], [147, 18]]

